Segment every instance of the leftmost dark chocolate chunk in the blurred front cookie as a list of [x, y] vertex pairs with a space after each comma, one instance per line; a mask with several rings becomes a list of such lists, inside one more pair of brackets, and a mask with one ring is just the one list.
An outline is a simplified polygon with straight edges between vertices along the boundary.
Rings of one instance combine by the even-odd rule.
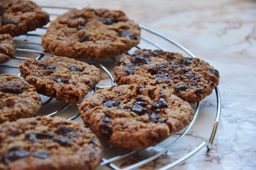
[[30, 156], [30, 152], [23, 150], [15, 150], [6, 152], [5, 154], [3, 154], [2, 158], [5, 163], [11, 163], [15, 160], [25, 158], [27, 156]]

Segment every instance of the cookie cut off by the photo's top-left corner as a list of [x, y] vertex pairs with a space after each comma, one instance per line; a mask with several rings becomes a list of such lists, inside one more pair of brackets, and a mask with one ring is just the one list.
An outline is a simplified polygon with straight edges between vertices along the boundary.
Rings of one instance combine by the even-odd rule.
[[0, 1], [0, 33], [11, 36], [26, 34], [49, 22], [49, 15], [35, 2], [25, 0]]

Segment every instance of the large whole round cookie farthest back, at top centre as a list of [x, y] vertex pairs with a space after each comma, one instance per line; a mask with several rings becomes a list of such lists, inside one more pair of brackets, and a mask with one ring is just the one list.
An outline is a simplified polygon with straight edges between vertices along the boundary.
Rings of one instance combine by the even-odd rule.
[[138, 24], [122, 11], [87, 7], [53, 20], [42, 37], [42, 46], [69, 58], [115, 57], [137, 45], [140, 33]]

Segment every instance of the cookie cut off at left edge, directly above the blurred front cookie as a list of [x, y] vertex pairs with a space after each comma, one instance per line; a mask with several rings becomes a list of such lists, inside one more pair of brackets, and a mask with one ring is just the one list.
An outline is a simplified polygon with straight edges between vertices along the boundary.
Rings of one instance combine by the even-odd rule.
[[41, 100], [35, 87], [10, 74], [0, 74], [0, 82], [0, 124], [34, 117]]

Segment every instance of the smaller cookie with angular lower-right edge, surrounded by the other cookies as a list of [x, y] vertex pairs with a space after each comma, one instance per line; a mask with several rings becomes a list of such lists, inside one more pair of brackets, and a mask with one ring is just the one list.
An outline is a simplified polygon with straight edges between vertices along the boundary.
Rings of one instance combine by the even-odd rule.
[[39, 94], [70, 104], [83, 99], [101, 79], [97, 67], [67, 57], [55, 56], [44, 61], [30, 58], [19, 66], [19, 70]]

